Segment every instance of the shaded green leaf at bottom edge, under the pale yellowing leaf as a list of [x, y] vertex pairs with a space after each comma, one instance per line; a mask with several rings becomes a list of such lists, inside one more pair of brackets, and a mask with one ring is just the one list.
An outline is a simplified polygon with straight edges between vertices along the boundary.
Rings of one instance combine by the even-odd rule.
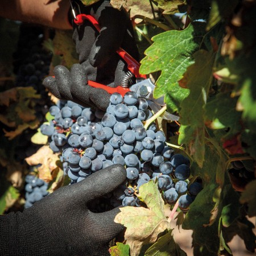
[[167, 234], [160, 237], [158, 241], [154, 243], [150, 248], [147, 249], [145, 256], [185, 256], [185, 251], [180, 249], [172, 236], [172, 230], [168, 230]]

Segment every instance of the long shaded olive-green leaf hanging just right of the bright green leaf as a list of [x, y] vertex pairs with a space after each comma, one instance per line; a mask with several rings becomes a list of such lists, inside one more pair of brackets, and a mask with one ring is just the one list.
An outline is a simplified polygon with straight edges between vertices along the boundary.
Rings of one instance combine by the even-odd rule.
[[213, 52], [203, 49], [193, 54], [195, 63], [187, 68], [181, 82], [189, 89], [189, 95], [181, 102], [179, 144], [189, 144], [189, 151], [197, 164], [204, 162], [204, 107], [212, 82], [212, 69], [215, 59]]

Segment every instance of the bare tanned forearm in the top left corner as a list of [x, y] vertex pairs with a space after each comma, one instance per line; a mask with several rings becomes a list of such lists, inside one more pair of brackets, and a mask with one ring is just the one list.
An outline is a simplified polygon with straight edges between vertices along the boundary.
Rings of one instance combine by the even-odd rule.
[[48, 27], [71, 29], [68, 0], [2, 0], [0, 16]]

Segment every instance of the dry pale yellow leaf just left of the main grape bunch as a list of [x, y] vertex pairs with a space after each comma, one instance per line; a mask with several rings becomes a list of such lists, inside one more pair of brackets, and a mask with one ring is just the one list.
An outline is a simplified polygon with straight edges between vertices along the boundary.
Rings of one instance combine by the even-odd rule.
[[59, 172], [59, 166], [57, 162], [59, 161], [59, 154], [53, 153], [49, 146], [43, 146], [34, 154], [25, 159], [30, 166], [36, 166], [42, 164], [38, 167], [39, 178], [49, 182], [51, 181]]

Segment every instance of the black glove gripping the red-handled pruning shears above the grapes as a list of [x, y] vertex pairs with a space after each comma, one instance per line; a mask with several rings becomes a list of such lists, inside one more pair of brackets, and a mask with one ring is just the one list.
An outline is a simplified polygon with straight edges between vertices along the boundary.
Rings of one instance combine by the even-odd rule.
[[70, 73], [67, 68], [57, 66], [54, 69], [55, 78], [47, 77], [43, 84], [57, 98], [106, 110], [110, 94], [103, 89], [91, 88], [87, 81], [112, 87], [122, 84], [128, 69], [126, 62], [116, 53], [117, 49], [122, 47], [139, 60], [133, 26], [126, 11], [114, 9], [109, 1], [100, 1], [88, 7], [82, 5], [80, 0], [77, 2], [80, 2], [81, 13], [90, 14], [98, 20], [100, 34], [88, 20], [81, 26], [73, 23], [73, 40], [81, 65], [73, 66]]

